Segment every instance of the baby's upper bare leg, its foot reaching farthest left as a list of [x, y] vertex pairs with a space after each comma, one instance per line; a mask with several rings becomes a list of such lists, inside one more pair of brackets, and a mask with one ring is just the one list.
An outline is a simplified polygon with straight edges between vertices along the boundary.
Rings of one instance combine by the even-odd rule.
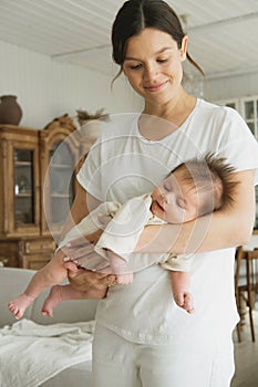
[[41, 270], [39, 270], [30, 281], [28, 287], [22, 294], [8, 304], [9, 311], [21, 318], [27, 307], [43, 292], [56, 283], [62, 282], [66, 278], [66, 269], [63, 266], [62, 251], [59, 251], [52, 260]]

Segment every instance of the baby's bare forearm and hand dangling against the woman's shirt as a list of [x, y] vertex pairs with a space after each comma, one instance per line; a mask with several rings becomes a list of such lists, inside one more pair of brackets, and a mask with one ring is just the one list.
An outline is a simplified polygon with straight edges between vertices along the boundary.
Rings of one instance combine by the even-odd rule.
[[189, 272], [171, 271], [172, 291], [178, 306], [188, 313], [194, 312], [193, 296], [189, 293]]

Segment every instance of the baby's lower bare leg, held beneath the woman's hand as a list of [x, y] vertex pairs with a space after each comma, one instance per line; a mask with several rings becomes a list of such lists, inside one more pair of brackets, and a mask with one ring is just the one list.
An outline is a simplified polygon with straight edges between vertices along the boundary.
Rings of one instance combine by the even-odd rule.
[[103, 299], [106, 294], [106, 289], [99, 291], [76, 291], [71, 285], [54, 285], [50, 290], [49, 296], [45, 299], [42, 306], [42, 314], [52, 317], [54, 307], [65, 300], [86, 300], [86, 299]]

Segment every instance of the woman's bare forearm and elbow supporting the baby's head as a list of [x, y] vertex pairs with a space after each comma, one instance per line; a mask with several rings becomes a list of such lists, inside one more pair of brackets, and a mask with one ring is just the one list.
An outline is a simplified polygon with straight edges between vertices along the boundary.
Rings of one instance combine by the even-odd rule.
[[235, 172], [234, 203], [183, 224], [146, 226], [135, 252], [175, 254], [241, 245], [250, 239], [255, 219], [254, 171]]

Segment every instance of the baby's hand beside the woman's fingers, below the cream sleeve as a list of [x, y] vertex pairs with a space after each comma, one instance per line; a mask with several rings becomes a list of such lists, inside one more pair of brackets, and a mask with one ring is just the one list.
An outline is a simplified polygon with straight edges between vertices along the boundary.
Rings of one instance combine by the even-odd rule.
[[111, 269], [113, 274], [115, 274], [115, 280], [117, 284], [128, 285], [133, 282], [133, 273], [128, 271], [126, 261], [116, 255], [113, 251], [109, 251], [109, 258], [111, 262]]

